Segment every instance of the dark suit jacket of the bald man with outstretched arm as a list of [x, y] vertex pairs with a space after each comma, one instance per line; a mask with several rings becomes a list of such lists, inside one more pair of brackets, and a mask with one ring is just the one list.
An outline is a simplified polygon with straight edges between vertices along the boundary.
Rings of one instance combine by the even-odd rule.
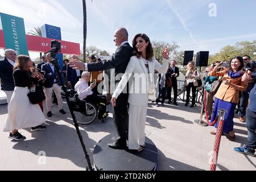
[[112, 59], [108, 61], [99, 61], [98, 63], [88, 63], [88, 71], [101, 71], [115, 68], [115, 76], [118, 73], [125, 73], [127, 64], [132, 56], [133, 48], [129, 43], [118, 46]]

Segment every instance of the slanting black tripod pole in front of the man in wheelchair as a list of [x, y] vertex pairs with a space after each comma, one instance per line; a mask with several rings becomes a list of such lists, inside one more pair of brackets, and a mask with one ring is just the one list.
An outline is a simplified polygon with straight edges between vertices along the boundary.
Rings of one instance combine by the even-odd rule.
[[59, 81], [60, 81], [60, 84], [61, 84], [61, 89], [63, 90], [64, 96], [67, 100], [68, 108], [69, 108], [69, 111], [71, 112], [72, 119], [73, 119], [74, 125], [76, 127], [76, 132], [77, 132], [77, 135], [79, 136], [79, 139], [80, 139], [80, 142], [81, 142], [81, 145], [82, 145], [82, 150], [84, 151], [85, 159], [88, 163], [88, 167], [86, 167], [86, 171], [94, 171], [94, 169], [92, 168], [92, 164], [90, 164], [90, 158], [89, 158], [88, 152], [86, 151], [84, 141], [82, 140], [82, 135], [81, 135], [80, 130], [79, 130], [79, 123], [76, 121], [76, 117], [73, 113], [73, 109], [72, 109], [70, 101], [69, 101], [69, 96], [67, 94], [67, 87], [64, 85], [63, 80], [61, 79], [61, 74], [60, 74], [60, 69], [59, 69], [59, 61], [57, 59], [53, 59], [53, 60], [51, 60], [51, 62], [52, 62], [52, 64], [54, 65], [54, 67], [56, 69], [56, 72], [57, 72], [57, 75], [58, 75], [58, 78], [59, 78]]

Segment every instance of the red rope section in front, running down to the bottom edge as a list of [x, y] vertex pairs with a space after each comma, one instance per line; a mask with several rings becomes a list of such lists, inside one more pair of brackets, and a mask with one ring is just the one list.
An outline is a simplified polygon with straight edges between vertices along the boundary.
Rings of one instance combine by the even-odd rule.
[[216, 133], [216, 139], [215, 139], [214, 148], [213, 148], [213, 158], [212, 158], [212, 163], [210, 164], [210, 171], [216, 171], [218, 151], [220, 149], [220, 141], [221, 141], [223, 125], [224, 125], [224, 121], [221, 119], [218, 125], [217, 133]]

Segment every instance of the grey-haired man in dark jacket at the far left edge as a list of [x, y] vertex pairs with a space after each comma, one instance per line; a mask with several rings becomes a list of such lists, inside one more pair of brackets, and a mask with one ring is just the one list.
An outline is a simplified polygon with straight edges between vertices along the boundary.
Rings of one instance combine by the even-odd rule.
[[14, 90], [13, 67], [16, 56], [16, 52], [13, 49], [5, 49], [5, 59], [0, 60], [1, 90], [7, 96], [7, 104], [10, 103]]

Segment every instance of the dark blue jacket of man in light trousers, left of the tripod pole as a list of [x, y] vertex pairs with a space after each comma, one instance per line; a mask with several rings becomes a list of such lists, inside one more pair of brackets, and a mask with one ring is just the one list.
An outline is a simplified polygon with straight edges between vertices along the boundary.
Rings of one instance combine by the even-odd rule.
[[[54, 84], [54, 79], [56, 79], [57, 84], [60, 85], [60, 81], [59, 81], [56, 69], [54, 68], [54, 72], [53, 72], [51, 65], [49, 63], [43, 64], [42, 71], [46, 72], [46, 73], [44, 73], [44, 78], [46, 78], [46, 81], [44, 82], [45, 88], [51, 88], [52, 85]], [[61, 71], [60, 71], [60, 73], [61, 73]]]

